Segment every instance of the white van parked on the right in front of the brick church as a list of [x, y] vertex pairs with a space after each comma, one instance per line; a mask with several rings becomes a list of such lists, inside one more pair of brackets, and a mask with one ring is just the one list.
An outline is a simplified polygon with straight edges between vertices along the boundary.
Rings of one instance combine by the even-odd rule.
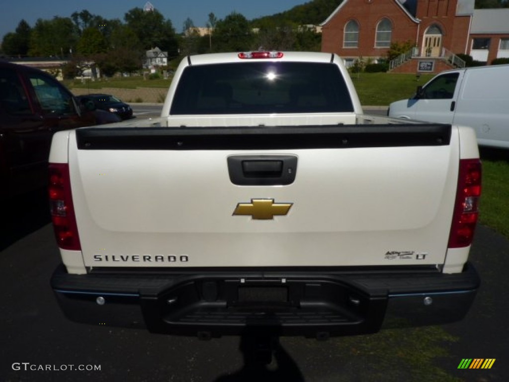
[[444, 71], [388, 115], [471, 126], [480, 146], [509, 148], [509, 65]]

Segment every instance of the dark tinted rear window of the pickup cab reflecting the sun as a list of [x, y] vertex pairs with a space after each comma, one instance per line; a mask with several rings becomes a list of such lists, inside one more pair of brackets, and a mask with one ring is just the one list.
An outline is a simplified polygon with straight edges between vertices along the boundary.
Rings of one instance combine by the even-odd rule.
[[353, 112], [353, 104], [336, 65], [249, 62], [187, 67], [170, 114], [337, 112]]

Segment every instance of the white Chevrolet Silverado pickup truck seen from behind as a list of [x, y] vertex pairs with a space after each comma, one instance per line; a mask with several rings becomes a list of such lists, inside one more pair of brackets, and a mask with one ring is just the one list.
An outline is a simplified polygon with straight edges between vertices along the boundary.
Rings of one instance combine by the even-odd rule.
[[74, 321], [326, 339], [460, 320], [479, 287], [475, 133], [363, 115], [335, 54], [187, 57], [159, 119], [49, 159]]

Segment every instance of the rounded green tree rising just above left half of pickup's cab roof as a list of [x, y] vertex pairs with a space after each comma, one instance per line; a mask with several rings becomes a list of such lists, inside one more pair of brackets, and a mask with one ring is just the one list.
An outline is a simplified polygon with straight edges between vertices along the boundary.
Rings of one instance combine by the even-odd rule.
[[214, 51], [243, 51], [252, 50], [253, 38], [251, 25], [247, 19], [237, 12], [232, 12], [223, 20], [216, 23], [213, 34]]

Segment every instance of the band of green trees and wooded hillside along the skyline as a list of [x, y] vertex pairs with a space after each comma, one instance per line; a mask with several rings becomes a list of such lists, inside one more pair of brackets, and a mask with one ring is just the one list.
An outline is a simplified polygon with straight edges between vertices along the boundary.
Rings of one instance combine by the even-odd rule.
[[[185, 54], [281, 49], [321, 49], [321, 34], [307, 25], [319, 25], [343, 0], [312, 0], [288, 11], [253, 20], [232, 12], [224, 19], [209, 13], [201, 36], [190, 18], [178, 34], [172, 21], [159, 11], [133, 8], [120, 19], [104, 19], [87, 10], [70, 17], [38, 19], [34, 26], [21, 20], [14, 32], [4, 36], [0, 53], [6, 57], [53, 57], [71, 59], [68, 76], [79, 75], [84, 63], [93, 62], [105, 75], [133, 72], [142, 67], [145, 51], [154, 47], [168, 52], [177, 62]], [[476, 0], [476, 8], [509, 7], [509, 0]], [[194, 29], [193, 29], [194, 28]]]

